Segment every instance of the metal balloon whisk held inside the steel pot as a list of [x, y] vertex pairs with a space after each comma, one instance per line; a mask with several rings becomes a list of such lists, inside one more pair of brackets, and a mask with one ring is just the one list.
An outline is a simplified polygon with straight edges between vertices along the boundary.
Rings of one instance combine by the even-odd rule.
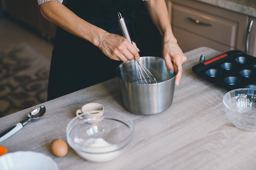
[[[130, 41], [130, 43], [132, 43], [132, 40], [130, 39], [130, 35], [124, 20], [124, 17], [122, 17], [121, 13], [118, 12], [117, 13], [119, 19], [119, 25], [121, 27], [122, 33], [124, 35], [124, 37]], [[133, 60], [134, 64], [135, 64], [135, 76], [136, 76], [136, 81], [135, 83], [137, 84], [154, 84], [157, 83], [157, 80], [155, 79], [155, 77], [153, 76], [153, 74], [151, 74], [151, 72], [143, 65], [141, 64], [139, 61], [135, 61], [135, 59]]]

